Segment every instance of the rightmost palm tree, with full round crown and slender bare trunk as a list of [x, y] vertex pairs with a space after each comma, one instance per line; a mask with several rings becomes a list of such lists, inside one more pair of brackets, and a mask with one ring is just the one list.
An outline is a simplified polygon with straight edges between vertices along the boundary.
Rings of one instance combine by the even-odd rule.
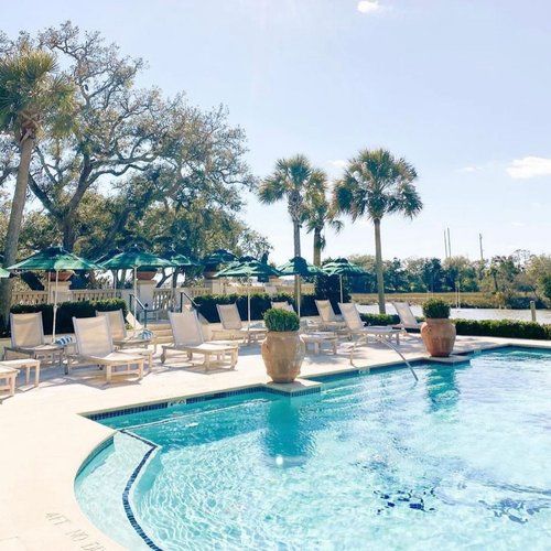
[[375, 227], [375, 260], [379, 312], [385, 313], [385, 282], [380, 223], [385, 215], [400, 213], [410, 218], [423, 208], [413, 185], [415, 169], [387, 150], [364, 150], [352, 159], [334, 190], [334, 206], [355, 220], [366, 216]]

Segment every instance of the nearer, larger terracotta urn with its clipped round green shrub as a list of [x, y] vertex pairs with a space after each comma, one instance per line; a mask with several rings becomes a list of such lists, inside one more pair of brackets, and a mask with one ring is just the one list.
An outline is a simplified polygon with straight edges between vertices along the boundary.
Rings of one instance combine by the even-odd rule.
[[294, 312], [270, 309], [264, 322], [268, 333], [261, 349], [266, 371], [273, 382], [293, 382], [301, 372], [305, 354], [299, 316]]

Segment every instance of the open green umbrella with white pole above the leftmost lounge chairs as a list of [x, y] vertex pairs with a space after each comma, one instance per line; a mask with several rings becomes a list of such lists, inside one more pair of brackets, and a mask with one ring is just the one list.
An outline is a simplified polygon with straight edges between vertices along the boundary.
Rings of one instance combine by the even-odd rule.
[[10, 266], [9, 270], [20, 271], [46, 271], [55, 272], [54, 291], [54, 316], [52, 327], [52, 341], [55, 341], [55, 322], [57, 318], [57, 283], [60, 281], [60, 271], [63, 270], [102, 270], [100, 264], [85, 260], [68, 252], [63, 247], [48, 247], [33, 255], [32, 257]]

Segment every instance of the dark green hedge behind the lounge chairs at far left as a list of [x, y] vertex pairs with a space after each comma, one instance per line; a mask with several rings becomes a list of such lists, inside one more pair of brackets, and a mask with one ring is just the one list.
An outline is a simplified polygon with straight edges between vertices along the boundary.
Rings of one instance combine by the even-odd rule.
[[[73, 317], [93, 317], [96, 310], [106, 312], [109, 310], [122, 310], [125, 317], [128, 313], [127, 303], [122, 299], [108, 299], [102, 301], [62, 302], [57, 309], [55, 323], [56, 333], [73, 333]], [[14, 314], [26, 314], [42, 312], [44, 333], [52, 334], [54, 307], [52, 304], [14, 304], [11, 309]], [[9, 328], [8, 328], [9, 331]]]

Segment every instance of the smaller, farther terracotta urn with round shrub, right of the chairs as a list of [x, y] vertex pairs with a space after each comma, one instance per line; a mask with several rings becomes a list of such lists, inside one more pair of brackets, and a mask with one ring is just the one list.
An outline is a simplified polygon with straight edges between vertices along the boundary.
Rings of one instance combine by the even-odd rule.
[[455, 325], [450, 320], [450, 304], [430, 299], [423, 304], [424, 323], [421, 337], [426, 352], [434, 357], [446, 358], [455, 344]]

